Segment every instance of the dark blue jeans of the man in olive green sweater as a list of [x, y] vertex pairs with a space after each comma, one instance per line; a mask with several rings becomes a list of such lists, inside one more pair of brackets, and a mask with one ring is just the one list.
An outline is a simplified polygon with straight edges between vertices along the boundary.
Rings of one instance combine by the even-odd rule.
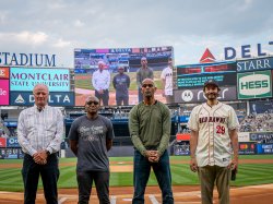
[[163, 204], [174, 204], [168, 152], [164, 152], [158, 163], [150, 163], [147, 158], [142, 156], [136, 149], [134, 151], [133, 158], [134, 194], [132, 203], [144, 203], [144, 193], [151, 172], [151, 167], [154, 170], [156, 180], [162, 190]]

